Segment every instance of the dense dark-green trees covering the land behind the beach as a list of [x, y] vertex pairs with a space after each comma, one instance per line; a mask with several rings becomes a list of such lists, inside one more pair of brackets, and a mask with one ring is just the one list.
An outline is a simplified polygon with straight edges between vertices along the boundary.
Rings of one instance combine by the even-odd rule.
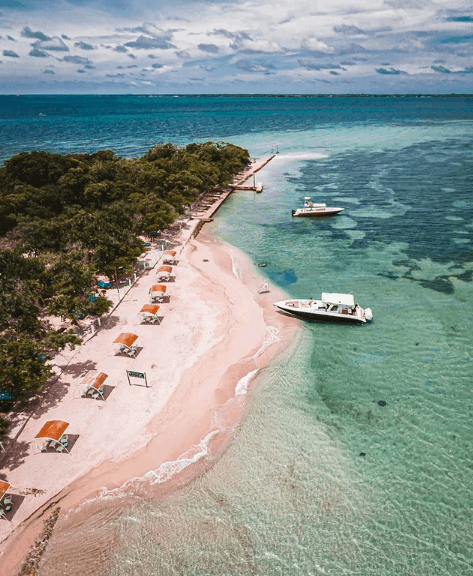
[[[112, 302], [97, 275], [132, 273], [139, 238], [166, 229], [186, 204], [231, 181], [250, 161], [232, 144], [158, 144], [142, 158], [111, 150], [22, 152], [0, 168], [0, 383], [18, 397], [50, 377], [40, 357], [80, 343], [46, 315], [77, 323]], [[8, 247], [8, 248], [7, 248]]]

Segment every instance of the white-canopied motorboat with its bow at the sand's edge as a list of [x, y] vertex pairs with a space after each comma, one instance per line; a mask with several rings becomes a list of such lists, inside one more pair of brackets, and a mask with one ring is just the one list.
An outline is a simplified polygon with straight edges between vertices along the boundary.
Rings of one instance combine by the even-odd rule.
[[322, 293], [321, 300], [298, 299], [275, 302], [283, 312], [294, 314], [307, 320], [325, 320], [350, 324], [365, 323], [373, 319], [371, 308], [361, 308], [355, 304], [352, 294]]

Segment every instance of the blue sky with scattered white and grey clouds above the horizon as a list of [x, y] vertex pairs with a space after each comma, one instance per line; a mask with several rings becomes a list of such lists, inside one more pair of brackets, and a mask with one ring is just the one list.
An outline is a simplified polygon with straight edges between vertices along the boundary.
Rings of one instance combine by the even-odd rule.
[[0, 0], [0, 93], [473, 93], [472, 0]]

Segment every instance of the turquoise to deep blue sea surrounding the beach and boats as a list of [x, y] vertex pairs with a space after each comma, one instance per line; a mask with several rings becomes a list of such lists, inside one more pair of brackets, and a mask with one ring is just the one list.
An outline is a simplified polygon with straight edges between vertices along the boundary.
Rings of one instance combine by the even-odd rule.
[[[473, 97], [1, 96], [0, 135], [0, 159], [277, 152], [211, 231], [288, 295], [374, 314], [301, 324], [205, 474], [76, 526], [113, 524], [101, 564], [59, 527], [41, 576], [473, 575]], [[293, 219], [304, 196], [345, 210]]]

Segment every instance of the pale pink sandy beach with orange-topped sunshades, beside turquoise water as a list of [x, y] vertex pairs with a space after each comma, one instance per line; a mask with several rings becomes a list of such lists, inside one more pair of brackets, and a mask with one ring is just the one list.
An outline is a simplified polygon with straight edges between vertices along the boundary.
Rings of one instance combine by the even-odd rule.
[[[60, 377], [2, 462], [15, 506], [0, 522], [1, 575], [14, 574], [56, 503], [63, 514], [87, 499], [126, 491], [132, 478], [175, 480], [183, 455], [199, 463], [196, 469], [205, 466], [241, 418], [246, 387], [294, 337], [297, 321], [272, 305], [283, 295], [272, 286], [259, 292], [254, 263], [205, 227], [192, 238], [221, 200], [181, 226], [159, 324], [142, 324], [139, 316], [158, 262], [92, 338], [55, 359]], [[135, 357], [117, 354], [113, 342], [123, 332], [138, 336]], [[105, 400], [78, 394], [91, 370], [108, 375]], [[138, 379], [130, 385], [127, 370], [146, 373], [148, 387]], [[70, 454], [35, 453], [34, 438], [50, 420], [69, 423]], [[192, 476], [193, 467], [181, 474]]]

